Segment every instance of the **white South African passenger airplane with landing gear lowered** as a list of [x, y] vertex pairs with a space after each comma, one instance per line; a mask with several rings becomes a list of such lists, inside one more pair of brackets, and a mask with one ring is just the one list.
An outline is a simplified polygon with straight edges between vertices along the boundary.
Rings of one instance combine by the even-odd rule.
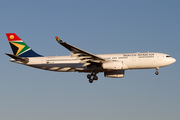
[[42, 56], [34, 52], [15, 33], [6, 33], [13, 54], [5, 53], [11, 62], [57, 72], [88, 73], [89, 83], [98, 80], [97, 74], [104, 72], [105, 77], [123, 78], [125, 70], [156, 69], [168, 66], [176, 61], [173, 57], [157, 52], [136, 52], [121, 54], [92, 54], [72, 46], [59, 37], [56, 41], [71, 52], [69, 56]]

